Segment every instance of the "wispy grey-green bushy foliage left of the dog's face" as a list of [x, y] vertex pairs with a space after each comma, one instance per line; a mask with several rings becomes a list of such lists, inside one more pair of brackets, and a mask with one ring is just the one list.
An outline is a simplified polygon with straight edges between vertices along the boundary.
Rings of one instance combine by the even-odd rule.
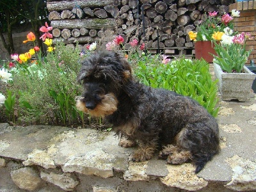
[[72, 125], [79, 118], [84, 122], [74, 100], [82, 91], [76, 80], [81, 67], [79, 52], [56, 45], [56, 51], [49, 52], [41, 65], [12, 71], [9, 88], [10, 92], [19, 93], [16, 108], [20, 123]]

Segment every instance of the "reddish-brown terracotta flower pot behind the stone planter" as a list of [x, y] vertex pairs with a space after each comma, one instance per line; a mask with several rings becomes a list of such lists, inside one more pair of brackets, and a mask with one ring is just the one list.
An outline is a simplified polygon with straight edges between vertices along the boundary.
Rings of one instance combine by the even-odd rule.
[[195, 58], [200, 60], [203, 58], [205, 61], [212, 63], [213, 56], [216, 55], [216, 51], [214, 50], [214, 43], [211, 41], [197, 41], [195, 42]]

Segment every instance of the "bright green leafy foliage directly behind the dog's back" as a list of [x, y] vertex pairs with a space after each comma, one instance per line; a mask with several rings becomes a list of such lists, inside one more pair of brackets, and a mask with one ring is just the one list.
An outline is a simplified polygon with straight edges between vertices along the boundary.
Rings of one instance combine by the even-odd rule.
[[147, 56], [143, 60], [132, 60], [134, 73], [141, 81], [154, 88], [165, 88], [197, 100], [212, 116], [217, 116], [218, 99], [216, 81], [212, 81], [209, 63], [204, 60], [180, 58], [167, 65], [159, 56]]

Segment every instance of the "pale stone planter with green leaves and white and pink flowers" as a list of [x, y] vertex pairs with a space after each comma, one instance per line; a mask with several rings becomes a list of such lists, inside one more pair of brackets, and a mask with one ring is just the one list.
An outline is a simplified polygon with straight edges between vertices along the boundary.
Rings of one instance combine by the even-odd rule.
[[214, 72], [219, 80], [219, 89], [223, 100], [247, 101], [253, 97], [252, 83], [256, 75], [246, 66], [252, 50], [246, 50], [246, 40], [250, 33], [234, 36], [222, 35], [220, 44], [214, 42]]

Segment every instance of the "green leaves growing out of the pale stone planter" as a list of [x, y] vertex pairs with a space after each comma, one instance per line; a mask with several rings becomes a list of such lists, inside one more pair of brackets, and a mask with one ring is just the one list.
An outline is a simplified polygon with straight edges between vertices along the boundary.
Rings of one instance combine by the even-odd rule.
[[251, 51], [245, 50], [245, 44], [215, 44], [215, 51], [217, 56], [214, 56], [214, 63], [220, 65], [221, 69], [225, 72], [240, 73], [243, 70], [245, 62], [248, 60], [248, 56]]

